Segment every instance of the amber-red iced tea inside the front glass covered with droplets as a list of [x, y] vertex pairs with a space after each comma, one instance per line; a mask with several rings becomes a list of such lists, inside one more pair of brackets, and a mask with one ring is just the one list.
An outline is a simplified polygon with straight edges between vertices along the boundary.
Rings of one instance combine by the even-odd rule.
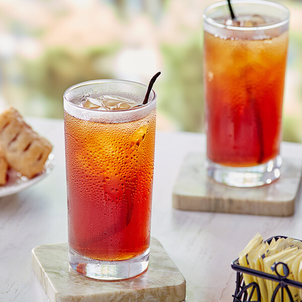
[[64, 112], [68, 238], [77, 253], [125, 260], [149, 247], [156, 111], [125, 123]]

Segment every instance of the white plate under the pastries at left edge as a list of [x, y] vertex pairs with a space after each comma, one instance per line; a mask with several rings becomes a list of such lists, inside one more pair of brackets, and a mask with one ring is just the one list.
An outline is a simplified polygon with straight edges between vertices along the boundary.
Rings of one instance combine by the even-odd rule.
[[5, 186], [0, 186], [0, 197], [9, 196], [15, 193], [18, 193], [41, 179], [43, 179], [46, 175], [50, 173], [53, 168], [53, 159], [54, 155], [51, 153], [48, 156], [48, 160], [45, 163], [45, 168], [43, 172], [35, 176], [34, 178], [27, 178], [26, 176], [22, 176], [20, 173], [15, 170], [9, 170], [9, 181]]

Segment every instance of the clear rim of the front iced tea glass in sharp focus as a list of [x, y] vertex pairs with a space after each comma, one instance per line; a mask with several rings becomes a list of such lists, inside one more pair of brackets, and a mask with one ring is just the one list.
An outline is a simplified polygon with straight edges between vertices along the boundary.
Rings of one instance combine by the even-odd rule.
[[137, 87], [140, 87], [140, 88], [144, 88], [146, 91], [148, 89], [148, 87], [144, 84], [141, 84], [141, 83], [138, 83], [138, 82], [133, 82], [133, 81], [127, 81], [127, 80], [115, 80], [115, 79], [91, 80], [91, 81], [80, 82], [78, 84], [74, 84], [74, 85], [70, 86], [69, 88], [67, 88], [65, 90], [64, 94], [63, 94], [63, 101], [66, 101], [66, 102], [68, 102], [69, 105], [77, 107], [81, 110], [83, 109], [83, 110], [88, 110], [90, 112], [91, 111], [100, 112], [100, 114], [117, 114], [117, 113], [120, 114], [121, 112], [129, 112], [129, 111], [137, 111], [137, 110], [146, 109], [147, 107], [152, 106], [153, 103], [156, 101], [156, 98], [157, 98], [156, 92], [152, 89], [150, 91], [150, 93], [153, 92], [152, 100], [149, 100], [143, 106], [139, 106], [139, 107], [136, 107], [136, 108], [129, 108], [129, 109], [121, 109], [121, 110], [95, 110], [95, 109], [86, 108], [86, 107], [82, 107], [82, 106], [79, 106], [77, 104], [74, 104], [74, 103], [70, 102], [66, 97], [66, 95], [74, 89], [77, 89], [77, 88], [80, 88], [80, 87], [83, 87], [83, 86], [89, 86], [89, 85], [94, 85], [94, 84], [102, 84], [102, 83], [128, 84], [128, 85], [131, 85], [131, 86], [137, 86]]

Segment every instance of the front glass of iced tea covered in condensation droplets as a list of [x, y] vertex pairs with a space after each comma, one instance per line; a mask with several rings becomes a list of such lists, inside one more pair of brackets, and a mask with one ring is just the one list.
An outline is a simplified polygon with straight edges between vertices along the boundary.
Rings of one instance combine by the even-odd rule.
[[64, 93], [70, 266], [118, 280], [146, 270], [149, 258], [156, 93], [98, 80]]

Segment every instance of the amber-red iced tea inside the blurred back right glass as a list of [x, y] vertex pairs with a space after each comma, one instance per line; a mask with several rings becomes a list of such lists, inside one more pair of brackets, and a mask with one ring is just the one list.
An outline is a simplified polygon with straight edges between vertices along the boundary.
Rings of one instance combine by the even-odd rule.
[[222, 39], [205, 32], [207, 157], [249, 167], [279, 154], [288, 34]]

